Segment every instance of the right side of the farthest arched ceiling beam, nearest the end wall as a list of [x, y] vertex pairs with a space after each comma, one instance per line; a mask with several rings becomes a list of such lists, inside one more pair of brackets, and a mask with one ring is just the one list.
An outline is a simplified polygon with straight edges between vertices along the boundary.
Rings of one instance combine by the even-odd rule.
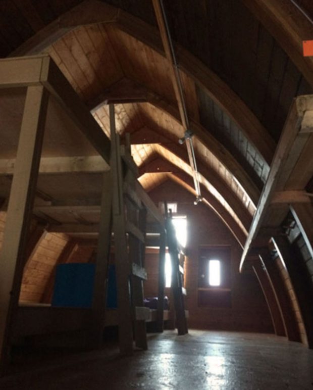
[[[172, 173], [169, 174], [169, 177], [175, 182], [177, 182], [178, 184], [182, 185], [184, 188], [186, 188], [189, 192], [191, 192], [195, 196], [195, 191], [192, 188], [193, 180], [189, 178], [186, 173], [183, 172], [179, 174]], [[236, 238], [241, 248], [243, 248], [246, 240], [246, 235], [239, 227], [239, 225], [230, 216], [230, 214], [223, 208], [223, 206], [212, 196], [212, 194], [208, 192], [203, 186], [201, 186], [201, 193], [204, 198], [203, 203], [206, 204], [208, 207], [210, 207], [219, 216], [219, 218], [224, 222], [224, 224], [228, 227], [228, 229], [231, 231], [233, 236]]]

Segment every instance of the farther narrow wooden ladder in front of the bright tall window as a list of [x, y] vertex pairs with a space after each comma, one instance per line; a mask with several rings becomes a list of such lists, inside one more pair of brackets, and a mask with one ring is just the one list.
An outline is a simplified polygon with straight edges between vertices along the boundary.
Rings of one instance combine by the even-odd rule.
[[182, 283], [182, 272], [179, 265], [179, 250], [178, 242], [175, 234], [175, 228], [172, 223], [172, 212], [167, 214], [166, 210], [166, 231], [167, 231], [167, 244], [169, 248], [169, 254], [172, 263], [172, 296], [174, 300], [176, 327], [179, 335], [188, 333], [184, 295], [186, 294]]

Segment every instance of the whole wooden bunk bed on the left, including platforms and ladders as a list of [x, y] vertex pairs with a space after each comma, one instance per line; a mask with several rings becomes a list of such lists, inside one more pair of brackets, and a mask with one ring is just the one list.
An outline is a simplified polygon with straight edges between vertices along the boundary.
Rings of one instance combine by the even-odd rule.
[[[128, 204], [139, 206], [143, 215], [149, 215], [154, 223], [158, 224], [161, 264], [165, 261], [165, 221], [134, 176], [137, 167], [131, 159], [129, 143], [126, 147], [119, 145], [119, 137], [115, 131], [114, 106], [110, 106], [112, 131], [110, 142], [48, 56], [1, 60], [0, 92], [3, 100], [18, 102], [15, 110], [19, 113], [22, 123], [20, 134], [18, 120], [8, 126], [12, 152], [2, 156], [8, 160], [7, 165], [1, 167], [6, 175], [14, 173], [11, 193], [10, 181], [6, 183], [4, 194], [0, 194], [3, 196], [10, 193], [1, 254], [2, 260], [6, 257], [10, 259], [10, 264], [4, 262], [1, 274], [2, 282], [4, 277], [7, 278], [1, 302], [2, 366], [7, 363], [11, 345], [21, 342], [25, 337], [51, 334], [53, 339], [54, 334], [77, 333], [80, 335], [81, 344], [96, 347], [101, 345], [103, 328], [116, 324], [122, 327], [120, 330], [127, 338], [124, 337], [120, 341], [122, 352], [132, 352], [133, 338], [136, 339], [137, 346], [145, 349], [146, 339], [143, 334], [145, 322], [156, 321], [160, 324], [162, 321], [162, 326], [159, 327], [162, 330], [163, 321], [169, 313], [162, 310], [161, 315], [160, 308], [151, 311], [143, 305], [138, 305], [138, 302], [142, 301], [142, 280], [145, 272], [143, 263], [136, 264], [136, 260], [133, 260], [131, 270], [127, 268], [127, 273], [120, 267], [118, 289], [119, 292], [124, 289], [124, 293], [120, 294], [124, 302], [120, 301], [118, 306], [122, 309], [104, 310], [106, 307], [104, 285], [108, 272], [112, 219], [115, 239], [118, 236], [121, 239], [123, 235], [125, 239], [126, 235], [135, 237], [136, 242], [133, 240], [132, 243], [133, 257], [136, 248], [144, 251], [144, 242], [138, 227], [128, 221], [122, 221], [124, 208], [121, 204], [115, 204], [115, 201], [118, 199], [119, 202], [124, 202], [125, 196]], [[29, 162], [28, 165], [25, 165], [25, 160]], [[88, 176], [90, 172], [92, 181]], [[134, 177], [128, 180], [131, 174]], [[94, 198], [99, 200], [98, 203], [90, 205], [86, 202], [86, 192], [87, 198], [88, 193], [92, 192]], [[67, 205], [65, 201], [73, 196], [77, 202]], [[117, 217], [118, 206], [120, 220]], [[75, 226], [72, 222], [75, 210], [85, 211], [86, 231], [99, 237], [92, 307], [62, 308], [22, 303], [19, 305], [23, 268], [27, 260], [26, 237], [32, 217], [36, 215], [45, 221], [49, 231], [63, 231], [79, 236], [82, 232], [81, 224]], [[94, 221], [95, 211], [98, 212], [98, 220], [96, 223], [90, 223], [88, 215]], [[145, 218], [141, 223], [146, 224]], [[142, 235], [145, 235], [145, 230]], [[118, 247], [116, 246], [116, 249], [121, 250], [122, 246]], [[126, 247], [127, 245], [124, 246], [125, 250]], [[124, 261], [128, 262], [126, 255], [128, 258], [126, 252], [120, 253], [119, 257], [124, 257]], [[121, 272], [124, 272], [124, 275], [121, 276]], [[128, 291], [125, 292], [127, 289], [125, 280], [129, 277], [132, 278], [133, 285], [136, 284], [134, 294], [137, 296], [137, 303], [130, 304]], [[124, 285], [121, 284], [123, 278]], [[162, 287], [162, 281], [160, 285]], [[138, 332], [135, 330], [135, 335], [131, 333], [132, 323], [135, 329], [137, 327], [139, 329]], [[64, 345], [71, 344], [70, 338], [67, 337], [62, 337], [62, 342]], [[75, 345], [77, 346], [77, 339]]]

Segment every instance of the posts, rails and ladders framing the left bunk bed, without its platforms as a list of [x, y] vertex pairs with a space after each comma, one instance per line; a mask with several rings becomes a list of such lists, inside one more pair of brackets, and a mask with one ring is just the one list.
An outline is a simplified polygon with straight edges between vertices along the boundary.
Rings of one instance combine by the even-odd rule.
[[[124, 202], [124, 196], [128, 198], [128, 203], [137, 204], [144, 211], [143, 214], [150, 215], [159, 226], [160, 270], [163, 269], [163, 272], [160, 272], [159, 289], [161, 289], [161, 292], [159, 292], [159, 298], [164, 296], [166, 227], [164, 217], [136, 180], [137, 167], [130, 155], [129, 142], [126, 147], [119, 145], [119, 138], [115, 131], [114, 106], [110, 106], [111, 137], [113, 137], [113, 142], [110, 142], [57, 65], [48, 56], [1, 60], [0, 88], [5, 91], [11, 88], [24, 88], [26, 90], [18, 149], [14, 161], [12, 188], [7, 208], [7, 224], [0, 258], [0, 283], [3, 285], [0, 302], [1, 370], [6, 369], [9, 362], [10, 348], [14, 343], [21, 342], [25, 337], [49, 333], [58, 334], [62, 332], [63, 334], [74, 335], [77, 332], [80, 335], [79, 340], [82, 345], [100, 347], [104, 327], [119, 324], [120, 330], [124, 332], [124, 338], [120, 337], [122, 339], [122, 341], [120, 340], [120, 350], [124, 353], [132, 353], [134, 338], [132, 328], [136, 328], [139, 323], [138, 328], [141, 330], [139, 332], [135, 330], [136, 345], [145, 349], [145, 321], [156, 321], [158, 329], [162, 331], [163, 322], [168, 317], [168, 312], [164, 312], [162, 306], [156, 311], [151, 311], [144, 308], [143, 305], [137, 304], [138, 294], [139, 303], [142, 301], [142, 280], [145, 278], [145, 271], [143, 261], [141, 264], [136, 264], [135, 259], [132, 261], [131, 269], [120, 267], [120, 271], [118, 270], [118, 288], [119, 290], [124, 289], [125, 293], [123, 295], [120, 291], [122, 299], [119, 301], [118, 312], [105, 310], [105, 281], [108, 276], [112, 223], [115, 237], [119, 236], [121, 239], [124, 235], [126, 240], [127, 234], [128, 237], [133, 236], [139, 241], [139, 244], [134, 244], [134, 248], [140, 248], [142, 256], [144, 255], [142, 236], [144, 237], [145, 231], [140, 234], [138, 227], [124, 221], [126, 226], [121, 220], [124, 215], [121, 206], [121, 202]], [[58, 102], [58, 107], [61, 107], [66, 116], [74, 123], [75, 129], [81, 132], [102, 159], [100, 162], [98, 161], [98, 169], [103, 176], [103, 180], [101, 185], [100, 220], [97, 225], [96, 276], [93, 304], [90, 309], [19, 305], [21, 280], [28, 253], [27, 238], [34, 212], [33, 205], [36, 205], [38, 200], [38, 191], [36, 192], [37, 178], [41, 171], [46, 172], [47, 169], [50, 169], [41, 167], [42, 161], [46, 158], [44, 153], [41, 152], [49, 99]], [[79, 172], [80, 168], [74, 166], [73, 161], [67, 161], [66, 164], [65, 167], [61, 167], [61, 170], [58, 166], [54, 172]], [[128, 172], [125, 177], [129, 177], [132, 173], [132, 180], [124, 180], [122, 173], [125, 173], [125, 167]], [[116, 200], [119, 200], [120, 205], [116, 204]], [[117, 217], [118, 207], [120, 207], [120, 217]], [[113, 210], [112, 213], [111, 210]], [[145, 225], [145, 220], [142, 223]], [[51, 224], [49, 229], [54, 231]], [[122, 254], [123, 261], [127, 261], [129, 265], [128, 255], [127, 260], [126, 255], [126, 252]], [[134, 304], [130, 302], [130, 297], [127, 295], [129, 294], [128, 284], [125, 284], [125, 281], [129, 277], [139, 280], [139, 282], [132, 281], [133, 284], [137, 283], [137, 287], [133, 292], [137, 295], [137, 303]], [[121, 280], [124, 280], [124, 285], [122, 285]], [[126, 317], [125, 313], [128, 313]], [[55, 339], [53, 339], [54, 343]], [[62, 343], [63, 345], [71, 345], [70, 337], [62, 337]], [[77, 339], [75, 345], [77, 346]]]

